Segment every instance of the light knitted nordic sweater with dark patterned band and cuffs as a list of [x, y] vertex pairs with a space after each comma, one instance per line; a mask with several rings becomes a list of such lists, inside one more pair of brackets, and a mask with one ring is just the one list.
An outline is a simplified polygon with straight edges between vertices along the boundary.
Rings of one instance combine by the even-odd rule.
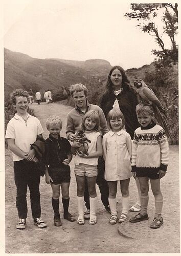
[[132, 143], [132, 172], [139, 170], [167, 170], [169, 145], [163, 128], [155, 123], [139, 127]]

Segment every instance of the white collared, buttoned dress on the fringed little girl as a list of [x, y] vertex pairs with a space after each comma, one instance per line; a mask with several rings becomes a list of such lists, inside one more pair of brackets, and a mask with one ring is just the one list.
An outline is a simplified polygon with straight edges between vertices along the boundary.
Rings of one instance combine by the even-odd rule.
[[131, 137], [123, 129], [109, 131], [103, 136], [105, 180], [117, 181], [131, 178]]

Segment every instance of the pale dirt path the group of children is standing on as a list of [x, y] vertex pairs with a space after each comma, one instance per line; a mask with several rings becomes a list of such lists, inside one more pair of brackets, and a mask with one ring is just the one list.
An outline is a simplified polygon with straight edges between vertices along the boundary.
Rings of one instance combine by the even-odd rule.
[[[59, 115], [63, 121], [62, 136], [65, 136], [66, 115], [71, 110], [70, 106], [59, 103], [32, 105], [35, 115], [43, 126], [43, 136], [48, 137], [45, 127], [46, 119], [51, 114]], [[160, 230], [150, 230], [149, 223], [154, 215], [154, 199], [149, 192], [148, 215], [150, 219], [145, 225], [134, 225], [127, 222], [126, 231], [133, 234], [135, 239], [128, 239], [118, 233], [119, 224], [108, 223], [109, 214], [105, 211], [100, 200], [97, 187], [98, 222], [90, 226], [88, 221], [80, 226], [76, 222], [68, 222], [62, 217], [62, 226], [53, 225], [53, 209], [51, 206], [52, 191], [50, 185], [41, 178], [41, 209], [42, 219], [48, 223], [48, 228], [39, 229], [32, 223], [31, 209], [28, 198], [28, 218], [25, 230], [15, 228], [17, 222], [17, 210], [15, 206], [16, 189], [14, 184], [11, 153], [5, 151], [6, 161], [6, 253], [179, 253], [179, 173], [178, 173], [178, 146], [170, 147], [170, 163], [167, 175], [161, 182], [164, 196], [163, 218], [164, 225]], [[77, 216], [76, 181], [74, 175], [74, 160], [71, 162], [70, 185], [70, 212]], [[137, 190], [133, 178], [130, 181], [130, 205], [137, 199]], [[121, 195], [118, 190], [118, 211], [121, 210]], [[61, 202], [61, 200], [60, 200]], [[60, 203], [62, 216], [62, 203]], [[133, 214], [129, 213], [129, 216]], [[122, 225], [122, 224], [120, 224]], [[122, 226], [124, 229], [126, 226]], [[136, 235], [135, 235], [136, 234]], [[131, 236], [131, 235], [130, 235]]]

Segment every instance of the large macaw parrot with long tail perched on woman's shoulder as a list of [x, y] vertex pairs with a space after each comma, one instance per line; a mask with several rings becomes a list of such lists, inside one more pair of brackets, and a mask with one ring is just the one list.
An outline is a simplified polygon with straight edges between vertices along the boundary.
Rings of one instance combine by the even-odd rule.
[[137, 89], [140, 101], [142, 103], [150, 104], [153, 107], [154, 115], [156, 120], [160, 123], [166, 132], [166, 135], [170, 137], [173, 141], [173, 136], [169, 131], [168, 125], [166, 123], [166, 110], [164, 109], [160, 100], [156, 97], [154, 92], [149, 88], [142, 79], [134, 80], [134, 87]]

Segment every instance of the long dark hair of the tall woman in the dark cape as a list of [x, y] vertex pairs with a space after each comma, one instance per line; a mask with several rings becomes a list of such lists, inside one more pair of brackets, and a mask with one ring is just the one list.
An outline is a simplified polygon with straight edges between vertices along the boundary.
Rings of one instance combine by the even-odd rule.
[[110, 76], [111, 76], [112, 72], [115, 69], [118, 69], [120, 71], [121, 75], [122, 75], [122, 88], [123, 88], [123, 90], [132, 91], [134, 94], [138, 94], [138, 92], [135, 90], [135, 88], [130, 84], [130, 81], [129, 81], [124, 69], [120, 66], [114, 66], [109, 71], [107, 81], [106, 81], [106, 84], [105, 84], [105, 93], [104, 93], [104, 95], [105, 94], [108, 95], [108, 94], [112, 93], [112, 91], [114, 90], [112, 81], [110, 80]]

